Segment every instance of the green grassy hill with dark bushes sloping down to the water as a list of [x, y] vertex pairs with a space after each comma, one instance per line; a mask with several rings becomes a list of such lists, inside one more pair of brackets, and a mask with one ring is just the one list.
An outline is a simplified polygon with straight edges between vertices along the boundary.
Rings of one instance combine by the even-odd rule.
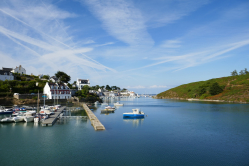
[[249, 102], [249, 74], [214, 78], [207, 81], [180, 85], [159, 93], [155, 98], [196, 98]]

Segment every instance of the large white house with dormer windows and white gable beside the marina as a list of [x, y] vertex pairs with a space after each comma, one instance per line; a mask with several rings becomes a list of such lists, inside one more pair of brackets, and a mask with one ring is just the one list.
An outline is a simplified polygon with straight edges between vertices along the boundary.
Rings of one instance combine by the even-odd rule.
[[43, 93], [47, 95], [47, 99], [70, 99], [70, 88], [65, 84], [47, 82], [43, 88]]

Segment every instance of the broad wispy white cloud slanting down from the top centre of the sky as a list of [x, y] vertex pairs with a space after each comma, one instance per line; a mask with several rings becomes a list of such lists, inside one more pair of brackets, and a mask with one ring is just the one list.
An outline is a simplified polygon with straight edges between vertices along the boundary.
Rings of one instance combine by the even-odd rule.
[[145, 20], [131, 1], [85, 0], [106, 31], [129, 45], [153, 45]]

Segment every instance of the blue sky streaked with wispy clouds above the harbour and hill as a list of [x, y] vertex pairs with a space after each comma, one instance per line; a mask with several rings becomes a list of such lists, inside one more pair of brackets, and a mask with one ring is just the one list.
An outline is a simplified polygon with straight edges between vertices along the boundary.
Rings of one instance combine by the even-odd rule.
[[248, 0], [1, 0], [0, 67], [156, 94], [249, 68]]

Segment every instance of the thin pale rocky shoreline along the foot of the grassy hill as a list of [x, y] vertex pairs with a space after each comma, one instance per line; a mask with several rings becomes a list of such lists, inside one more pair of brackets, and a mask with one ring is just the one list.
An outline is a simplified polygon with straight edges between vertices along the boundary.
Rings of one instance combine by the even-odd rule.
[[249, 102], [239, 102], [239, 101], [226, 101], [226, 100], [210, 100], [210, 99], [194, 99], [194, 98], [167, 98], [167, 97], [153, 97], [155, 99], [173, 99], [173, 100], [185, 100], [185, 101], [204, 101], [204, 102], [218, 102], [218, 103], [237, 103], [237, 104], [248, 104]]

